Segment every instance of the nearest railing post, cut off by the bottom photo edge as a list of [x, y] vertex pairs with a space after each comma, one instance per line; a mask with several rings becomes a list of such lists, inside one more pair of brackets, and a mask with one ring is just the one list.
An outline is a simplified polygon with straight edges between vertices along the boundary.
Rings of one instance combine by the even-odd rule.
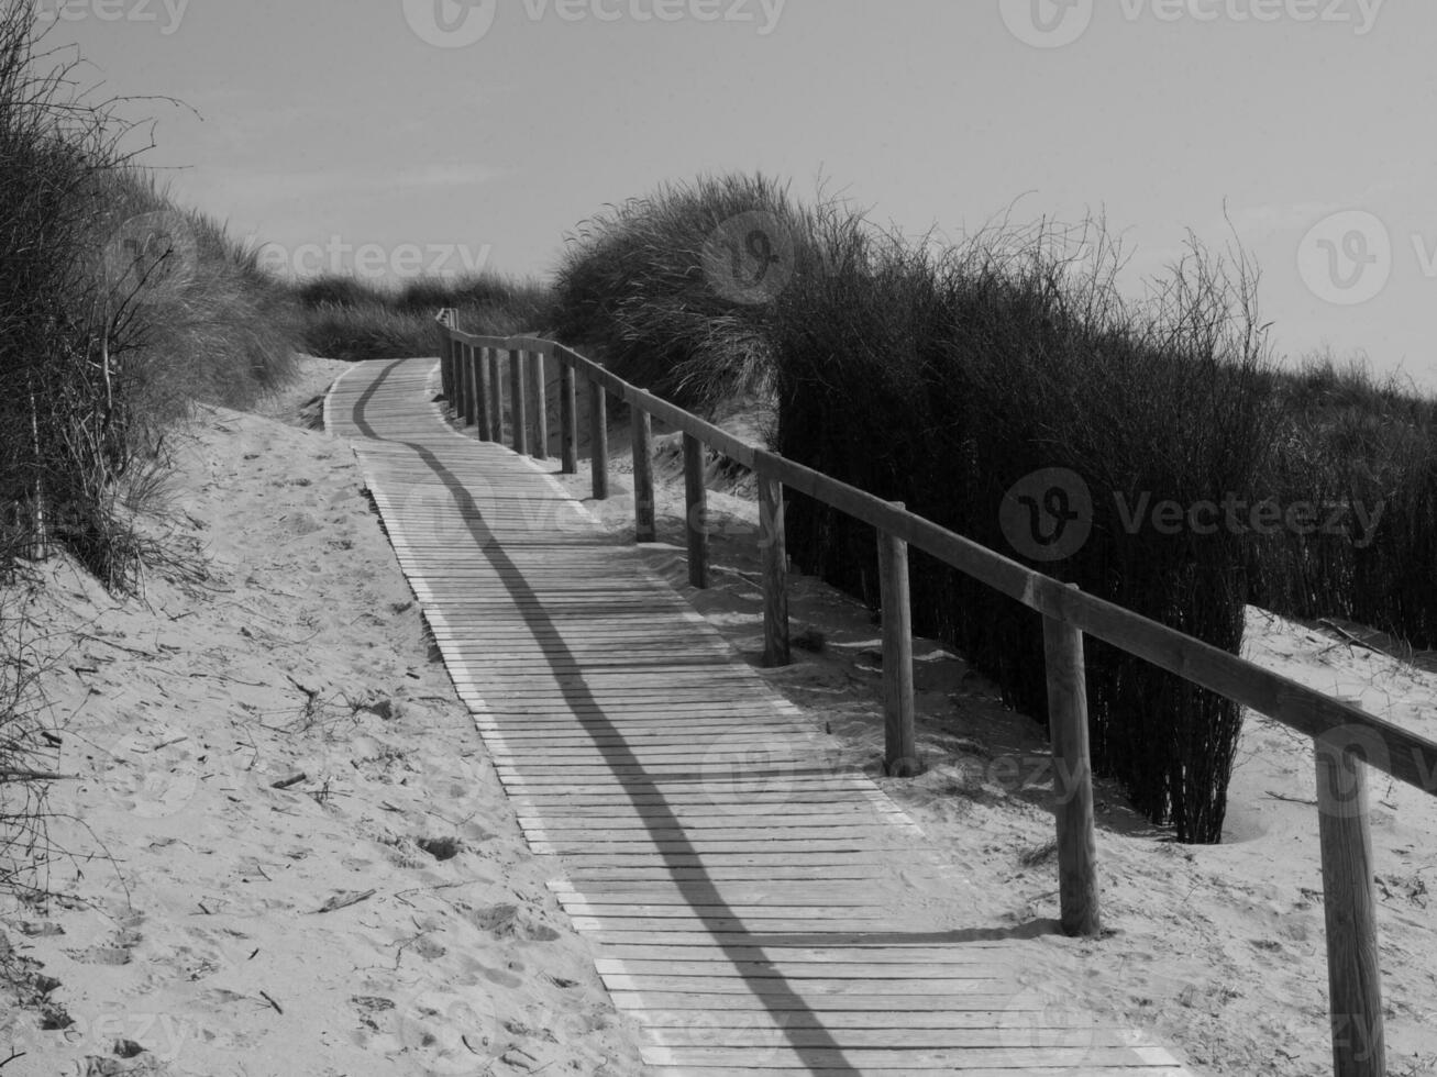
[[1385, 1077], [1387, 1034], [1382, 1028], [1367, 771], [1336, 734], [1316, 738], [1316, 764], [1332, 1073], [1336, 1077]]

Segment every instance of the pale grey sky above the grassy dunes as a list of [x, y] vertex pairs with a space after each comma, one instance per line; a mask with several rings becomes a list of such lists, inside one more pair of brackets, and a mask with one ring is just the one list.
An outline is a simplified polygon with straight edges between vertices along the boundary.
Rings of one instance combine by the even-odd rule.
[[39, 3], [279, 270], [543, 274], [606, 204], [762, 171], [910, 234], [1101, 214], [1132, 280], [1236, 241], [1280, 356], [1437, 391], [1430, 0]]

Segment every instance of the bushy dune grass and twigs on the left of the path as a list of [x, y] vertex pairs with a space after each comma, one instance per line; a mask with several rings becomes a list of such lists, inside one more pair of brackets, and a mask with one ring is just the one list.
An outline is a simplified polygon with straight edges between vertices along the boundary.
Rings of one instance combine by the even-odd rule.
[[42, 658], [23, 564], [63, 549], [106, 586], [168, 556], [137, 527], [195, 401], [243, 406], [293, 363], [292, 300], [251, 251], [121, 149], [27, 0], [0, 3], [0, 886], [43, 864]]

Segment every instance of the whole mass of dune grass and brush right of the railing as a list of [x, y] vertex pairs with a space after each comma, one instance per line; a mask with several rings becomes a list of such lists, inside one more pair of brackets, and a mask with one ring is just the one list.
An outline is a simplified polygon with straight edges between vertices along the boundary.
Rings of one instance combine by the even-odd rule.
[[[1190, 238], [1141, 302], [1119, 294], [1119, 264], [1099, 223], [943, 244], [799, 205], [764, 177], [701, 178], [581, 225], [556, 323], [690, 408], [770, 393], [785, 455], [1227, 651], [1249, 602], [1431, 646], [1433, 406], [1331, 362], [1280, 370], [1242, 251]], [[1091, 533], [1053, 560], [1006, 526], [1035, 472], [1091, 505]], [[1150, 516], [1234, 501], [1345, 505], [1351, 526]], [[798, 494], [787, 527], [805, 572], [878, 603], [871, 528]], [[923, 556], [912, 577], [915, 628], [1042, 717], [1038, 619]], [[1088, 669], [1098, 768], [1180, 840], [1220, 840], [1239, 708], [1096, 640]]]

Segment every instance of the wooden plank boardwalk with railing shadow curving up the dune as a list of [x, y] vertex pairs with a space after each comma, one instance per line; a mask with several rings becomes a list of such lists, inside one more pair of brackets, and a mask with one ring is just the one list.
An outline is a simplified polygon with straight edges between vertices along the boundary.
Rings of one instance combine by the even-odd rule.
[[437, 360], [326, 401], [647, 1073], [1188, 1071], [1043, 988], [831, 738], [537, 464], [450, 426]]

